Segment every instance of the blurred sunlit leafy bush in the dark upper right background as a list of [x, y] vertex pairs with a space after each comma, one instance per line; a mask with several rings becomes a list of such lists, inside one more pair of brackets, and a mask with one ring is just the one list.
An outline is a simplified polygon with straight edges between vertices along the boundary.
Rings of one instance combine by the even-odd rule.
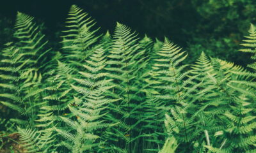
[[[250, 22], [255, 22], [255, 1], [192, 0], [193, 9], [200, 19], [188, 43], [189, 63], [200, 52], [246, 66], [248, 54], [239, 54], [239, 43]], [[200, 24], [199, 24], [200, 23]]]

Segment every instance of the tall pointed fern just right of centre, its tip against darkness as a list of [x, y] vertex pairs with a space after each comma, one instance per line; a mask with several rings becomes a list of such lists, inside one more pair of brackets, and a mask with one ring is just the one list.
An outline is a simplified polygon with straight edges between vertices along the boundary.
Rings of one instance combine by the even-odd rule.
[[[175, 126], [179, 126], [179, 138], [177, 140], [181, 142], [188, 142], [199, 135], [200, 131], [196, 130], [195, 133], [191, 135], [190, 130], [193, 130], [189, 124], [193, 122], [194, 118], [191, 116], [189, 109], [193, 108], [193, 99], [191, 94], [196, 91], [198, 85], [191, 85], [193, 78], [189, 78], [190, 71], [185, 71], [186, 65], [179, 66], [186, 58], [185, 52], [180, 52], [181, 48], [176, 47], [173, 43], [166, 38], [161, 49], [157, 52], [157, 57], [154, 59], [155, 64], [150, 71], [151, 75], [151, 87], [148, 92], [148, 107], [154, 112], [152, 117], [154, 119], [163, 121], [164, 114], [168, 110], [172, 110], [173, 117], [175, 118]], [[153, 91], [153, 92], [152, 92]], [[189, 103], [188, 103], [189, 102]], [[156, 117], [157, 118], [156, 118]], [[192, 117], [192, 118], [190, 118]], [[158, 145], [161, 145], [162, 136], [156, 133], [163, 133], [163, 128], [159, 125], [159, 121], [156, 122], [150, 119], [148, 122], [148, 127], [154, 129], [153, 138], [155, 137]], [[188, 135], [190, 133], [190, 135]], [[175, 133], [173, 133], [175, 135]], [[161, 138], [162, 137], [162, 138]]]

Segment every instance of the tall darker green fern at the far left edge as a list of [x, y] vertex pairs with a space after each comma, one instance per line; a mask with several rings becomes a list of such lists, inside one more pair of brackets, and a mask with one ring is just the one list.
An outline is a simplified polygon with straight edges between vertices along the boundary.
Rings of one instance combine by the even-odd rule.
[[[40, 105], [42, 75], [47, 68], [47, 41], [33, 22], [33, 17], [17, 13], [14, 37], [17, 42], [8, 43], [4, 52], [2, 79], [5, 93], [1, 93], [3, 105], [17, 110], [22, 115], [31, 118], [30, 124], [36, 118]], [[6, 81], [4, 81], [6, 80]], [[7, 85], [8, 84], [8, 85]]]

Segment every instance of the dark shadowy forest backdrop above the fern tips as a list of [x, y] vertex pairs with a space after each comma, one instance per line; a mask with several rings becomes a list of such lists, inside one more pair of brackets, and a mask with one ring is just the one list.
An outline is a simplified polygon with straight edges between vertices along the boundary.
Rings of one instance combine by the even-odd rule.
[[237, 64], [250, 62], [249, 54], [237, 50], [250, 22], [256, 22], [253, 0], [2, 0], [0, 47], [12, 40], [15, 15], [21, 11], [35, 17], [50, 45], [58, 50], [72, 4], [95, 18], [102, 33], [113, 33], [118, 21], [137, 31], [140, 37], [147, 34], [163, 40], [167, 36], [188, 51], [189, 63], [202, 51]]

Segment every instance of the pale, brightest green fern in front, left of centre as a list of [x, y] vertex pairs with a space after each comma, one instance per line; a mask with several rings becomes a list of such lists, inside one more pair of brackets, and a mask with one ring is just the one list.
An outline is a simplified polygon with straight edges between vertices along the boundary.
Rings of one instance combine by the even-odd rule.
[[[74, 121], [72, 116], [70, 119], [66, 117], [61, 117], [61, 119], [76, 130], [76, 134], [56, 129], [60, 135], [71, 142], [71, 146], [74, 146], [70, 149], [72, 152], [92, 150], [97, 145], [103, 145], [103, 143], [95, 142], [97, 138], [100, 138], [95, 135], [97, 134], [95, 131], [111, 126], [111, 122], [105, 122], [102, 118], [106, 115], [106, 106], [118, 99], [106, 98], [106, 94], [104, 94], [113, 88], [113, 85], [109, 85], [111, 80], [106, 79], [108, 73], [102, 71], [106, 66], [104, 52], [102, 48], [95, 50], [90, 60], [84, 64], [86, 71], [79, 72], [81, 78], [73, 78], [77, 85], [71, 86], [79, 95], [74, 97], [74, 105], [71, 104], [68, 107], [72, 116], [76, 116], [77, 121]], [[100, 148], [108, 149], [107, 146], [108, 144], [105, 144]]]

